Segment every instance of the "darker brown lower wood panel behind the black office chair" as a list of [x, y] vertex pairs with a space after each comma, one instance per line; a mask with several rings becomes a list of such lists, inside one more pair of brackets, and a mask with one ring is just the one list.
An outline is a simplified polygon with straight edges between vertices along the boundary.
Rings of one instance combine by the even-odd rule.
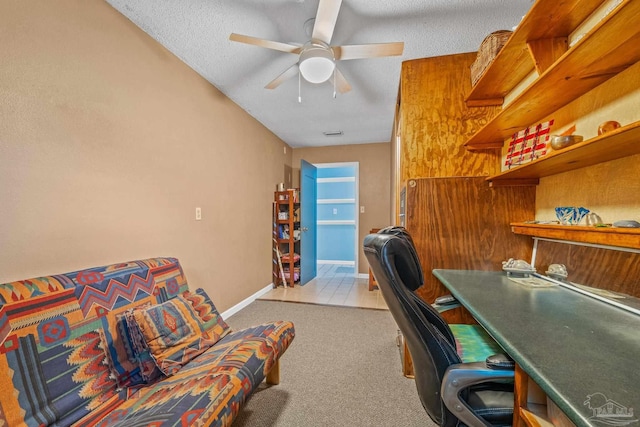
[[[423, 178], [407, 185], [407, 230], [425, 273], [418, 294], [429, 303], [448, 293], [434, 268], [500, 270], [509, 258], [530, 259], [532, 240], [510, 222], [533, 218], [535, 187], [490, 188], [485, 177]], [[471, 319], [457, 309], [449, 322]]]

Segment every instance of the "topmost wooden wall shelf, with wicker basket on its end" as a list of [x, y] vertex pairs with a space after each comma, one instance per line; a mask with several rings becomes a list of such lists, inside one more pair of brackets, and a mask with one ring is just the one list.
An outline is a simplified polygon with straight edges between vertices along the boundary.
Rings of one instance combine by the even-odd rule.
[[[603, 2], [604, 0], [536, 1], [473, 87], [467, 101], [503, 99], [534, 69], [534, 62], [527, 52], [528, 41], [569, 36]], [[559, 8], [568, 12], [556, 13]]]

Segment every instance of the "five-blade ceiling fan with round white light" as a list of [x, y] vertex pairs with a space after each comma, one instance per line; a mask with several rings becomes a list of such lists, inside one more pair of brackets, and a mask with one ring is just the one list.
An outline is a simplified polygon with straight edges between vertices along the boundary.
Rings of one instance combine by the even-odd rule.
[[330, 46], [341, 5], [342, 0], [320, 0], [311, 40], [302, 46], [235, 33], [229, 36], [229, 40], [298, 55], [298, 62], [269, 82], [265, 86], [266, 89], [275, 89], [285, 80], [300, 73], [306, 81], [316, 84], [333, 78], [335, 89], [340, 93], [346, 93], [351, 90], [351, 86], [336, 67], [336, 61], [402, 55], [404, 43]]

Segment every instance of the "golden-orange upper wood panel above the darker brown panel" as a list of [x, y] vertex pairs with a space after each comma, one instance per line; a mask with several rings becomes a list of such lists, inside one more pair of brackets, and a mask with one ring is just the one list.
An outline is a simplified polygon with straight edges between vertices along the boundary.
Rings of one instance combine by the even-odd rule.
[[402, 64], [398, 129], [400, 180], [437, 176], [494, 175], [499, 153], [470, 153], [463, 143], [499, 107], [465, 104], [475, 53], [417, 59]]

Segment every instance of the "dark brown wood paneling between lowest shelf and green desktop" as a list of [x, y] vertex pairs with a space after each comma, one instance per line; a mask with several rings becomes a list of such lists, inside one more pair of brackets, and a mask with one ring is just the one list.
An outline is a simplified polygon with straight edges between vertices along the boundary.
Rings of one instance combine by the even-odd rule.
[[564, 264], [569, 280], [640, 298], [640, 254], [590, 246], [540, 241], [536, 269]]

